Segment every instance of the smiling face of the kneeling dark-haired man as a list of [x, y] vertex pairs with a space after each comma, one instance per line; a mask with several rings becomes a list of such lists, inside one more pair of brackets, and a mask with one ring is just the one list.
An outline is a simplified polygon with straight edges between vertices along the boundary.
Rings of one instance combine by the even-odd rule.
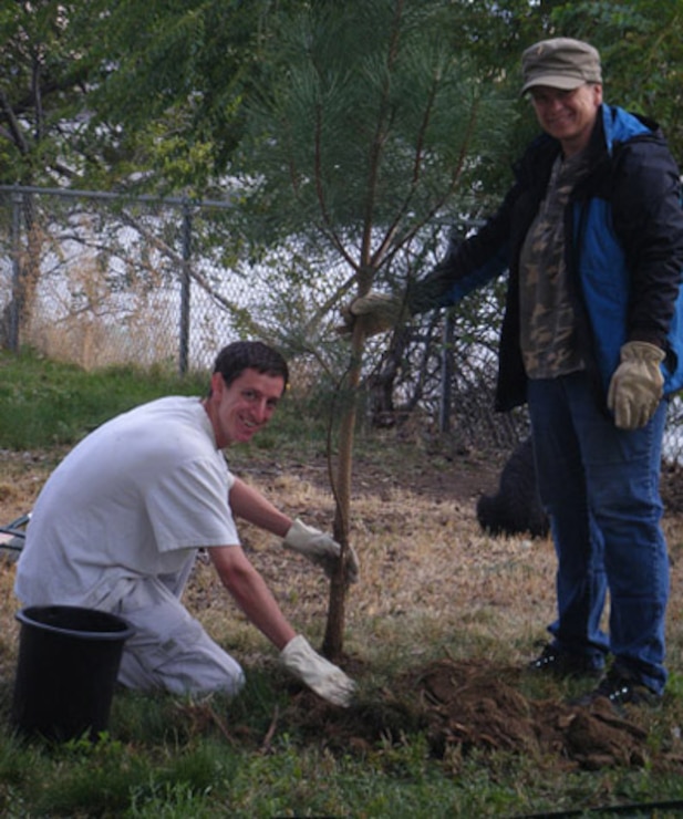
[[250, 440], [268, 424], [283, 391], [284, 379], [279, 375], [245, 370], [226, 386], [223, 375], [214, 373], [207, 411], [218, 448]]

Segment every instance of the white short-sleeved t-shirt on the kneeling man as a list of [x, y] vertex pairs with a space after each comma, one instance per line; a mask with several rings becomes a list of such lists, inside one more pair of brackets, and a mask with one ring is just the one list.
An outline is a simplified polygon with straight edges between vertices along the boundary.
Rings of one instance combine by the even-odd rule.
[[108, 421], [40, 493], [17, 595], [24, 605], [105, 608], [139, 578], [177, 589], [197, 548], [239, 543], [232, 483], [199, 398], [161, 398]]

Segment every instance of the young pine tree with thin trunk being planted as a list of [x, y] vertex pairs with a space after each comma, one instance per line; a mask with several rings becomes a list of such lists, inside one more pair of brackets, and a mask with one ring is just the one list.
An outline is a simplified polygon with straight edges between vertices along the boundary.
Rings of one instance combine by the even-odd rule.
[[[353, 294], [406, 284], [397, 255], [457, 194], [467, 210], [510, 124], [495, 77], [482, 82], [467, 43], [452, 43], [468, 3], [314, 2], [283, 15], [265, 55], [267, 82], [244, 144], [247, 207], [268, 241], [324, 243]], [[260, 217], [260, 219], [259, 219]], [[263, 236], [260, 237], [261, 240]], [[324, 272], [320, 276], [324, 277]], [[349, 342], [334, 479], [334, 533], [349, 543], [356, 394], [365, 331]], [[333, 579], [323, 651], [343, 645], [343, 572]]]

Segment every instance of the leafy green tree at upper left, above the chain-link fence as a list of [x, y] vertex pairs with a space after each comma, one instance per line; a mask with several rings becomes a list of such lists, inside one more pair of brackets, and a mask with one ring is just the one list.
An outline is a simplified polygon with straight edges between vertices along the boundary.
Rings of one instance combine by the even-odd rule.
[[[241, 134], [276, 4], [3, 3], [0, 182], [206, 196]], [[39, 199], [24, 193], [22, 205], [27, 252], [0, 317], [12, 348], [33, 312], [44, 241]]]

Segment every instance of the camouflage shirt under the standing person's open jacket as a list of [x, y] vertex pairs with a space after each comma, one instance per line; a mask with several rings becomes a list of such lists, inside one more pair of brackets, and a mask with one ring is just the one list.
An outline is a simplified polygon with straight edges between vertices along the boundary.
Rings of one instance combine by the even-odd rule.
[[520, 344], [529, 379], [553, 379], [584, 366], [575, 343], [576, 315], [565, 263], [565, 207], [586, 173], [581, 154], [558, 157], [531, 224], [519, 266]]

